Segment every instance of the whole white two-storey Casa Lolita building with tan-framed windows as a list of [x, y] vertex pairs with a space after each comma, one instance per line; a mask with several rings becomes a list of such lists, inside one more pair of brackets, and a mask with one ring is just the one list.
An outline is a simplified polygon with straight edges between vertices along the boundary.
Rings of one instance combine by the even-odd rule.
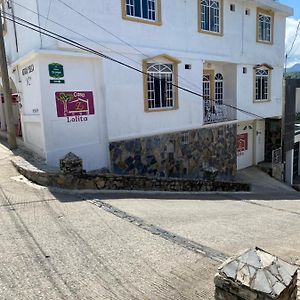
[[13, 1], [5, 10], [148, 75], [7, 21], [24, 143], [48, 164], [72, 151], [87, 170], [197, 177], [213, 166], [232, 177], [264, 161], [273, 147], [266, 128], [282, 116], [291, 8], [273, 0], [64, 1], [70, 7], [19, 0], [27, 10]]

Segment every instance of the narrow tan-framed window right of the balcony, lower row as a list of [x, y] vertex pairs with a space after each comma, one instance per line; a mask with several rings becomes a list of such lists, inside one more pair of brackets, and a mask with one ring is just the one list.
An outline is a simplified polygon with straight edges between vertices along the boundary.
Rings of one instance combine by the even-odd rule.
[[271, 100], [271, 70], [268, 65], [254, 68], [255, 72], [255, 101]]

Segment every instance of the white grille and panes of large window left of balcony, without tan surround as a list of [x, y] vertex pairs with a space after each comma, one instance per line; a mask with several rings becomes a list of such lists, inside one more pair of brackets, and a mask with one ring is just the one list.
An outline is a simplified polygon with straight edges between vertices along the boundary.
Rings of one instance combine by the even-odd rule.
[[147, 65], [148, 109], [174, 108], [172, 64]]

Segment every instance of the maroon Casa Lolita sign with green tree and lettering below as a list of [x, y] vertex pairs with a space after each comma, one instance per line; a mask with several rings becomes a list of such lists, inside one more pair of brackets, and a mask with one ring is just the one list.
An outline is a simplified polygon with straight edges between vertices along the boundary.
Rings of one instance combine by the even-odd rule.
[[95, 114], [93, 92], [56, 92], [55, 99], [57, 116], [68, 123], [86, 122]]

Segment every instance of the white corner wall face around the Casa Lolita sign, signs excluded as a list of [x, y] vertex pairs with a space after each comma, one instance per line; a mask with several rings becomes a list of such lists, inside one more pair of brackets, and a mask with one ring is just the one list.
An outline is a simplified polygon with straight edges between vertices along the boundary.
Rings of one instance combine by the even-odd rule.
[[[59, 159], [71, 151], [83, 159], [86, 170], [108, 167], [106, 108], [99, 84], [103, 76], [100, 60], [41, 54], [39, 63], [47, 163], [58, 166]], [[50, 84], [50, 63], [64, 66], [65, 84]], [[66, 117], [57, 116], [55, 93], [71, 91], [93, 92], [95, 114], [89, 115], [85, 122], [68, 122]]]

